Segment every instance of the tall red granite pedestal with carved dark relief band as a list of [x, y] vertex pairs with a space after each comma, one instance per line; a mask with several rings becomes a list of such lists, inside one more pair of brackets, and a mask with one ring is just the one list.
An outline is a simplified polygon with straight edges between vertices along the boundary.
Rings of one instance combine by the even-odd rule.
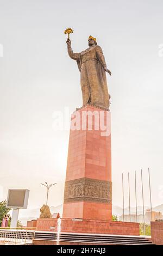
[[72, 114], [63, 218], [111, 220], [111, 132], [107, 109], [86, 105]]

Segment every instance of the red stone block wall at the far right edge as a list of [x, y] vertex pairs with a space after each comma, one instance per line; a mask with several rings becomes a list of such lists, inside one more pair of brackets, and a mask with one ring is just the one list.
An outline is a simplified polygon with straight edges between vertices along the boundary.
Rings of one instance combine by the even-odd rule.
[[163, 221], [151, 222], [151, 237], [155, 245], [163, 245]]

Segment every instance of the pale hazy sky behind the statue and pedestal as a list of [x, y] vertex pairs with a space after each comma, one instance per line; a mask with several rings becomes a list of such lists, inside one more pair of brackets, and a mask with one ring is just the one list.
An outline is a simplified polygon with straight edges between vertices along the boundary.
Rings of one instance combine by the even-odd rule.
[[0, 0], [0, 200], [9, 188], [30, 190], [28, 208], [46, 202], [41, 182], [57, 182], [49, 205], [62, 203], [69, 131], [54, 131], [53, 113], [82, 106], [80, 73], [67, 55], [64, 30], [74, 52], [92, 35], [103, 49], [111, 94], [113, 204], [125, 206], [130, 172], [131, 205], [163, 203], [163, 43], [162, 0]]

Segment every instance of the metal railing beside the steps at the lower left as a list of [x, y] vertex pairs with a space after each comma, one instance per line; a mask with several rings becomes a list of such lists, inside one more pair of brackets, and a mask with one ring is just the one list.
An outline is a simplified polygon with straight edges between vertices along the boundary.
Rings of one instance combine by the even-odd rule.
[[0, 228], [0, 245], [26, 245], [35, 238], [36, 228]]

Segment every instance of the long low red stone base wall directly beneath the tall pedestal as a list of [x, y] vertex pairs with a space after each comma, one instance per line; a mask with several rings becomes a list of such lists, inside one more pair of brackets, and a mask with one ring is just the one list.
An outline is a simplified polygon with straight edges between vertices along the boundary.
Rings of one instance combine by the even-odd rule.
[[[54, 226], [55, 229], [50, 229], [50, 227]], [[50, 218], [37, 219], [37, 230], [57, 231], [57, 220]], [[84, 219], [83, 221], [77, 221], [72, 218], [62, 218], [61, 232], [139, 235], [139, 223]]]

